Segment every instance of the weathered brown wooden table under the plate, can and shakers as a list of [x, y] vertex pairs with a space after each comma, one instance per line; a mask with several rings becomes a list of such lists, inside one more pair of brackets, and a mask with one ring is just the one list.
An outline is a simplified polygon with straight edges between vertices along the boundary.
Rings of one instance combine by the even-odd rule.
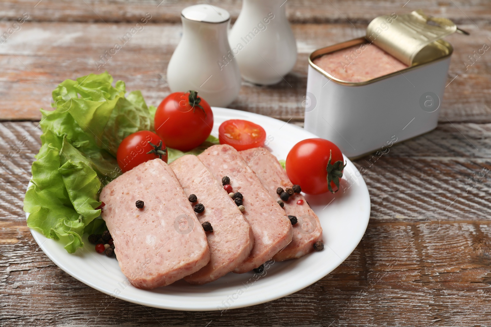
[[[195, 3], [161, 1], [0, 3], [0, 32], [17, 29], [0, 44], [1, 326], [491, 325], [491, 50], [468, 66], [469, 55], [491, 45], [487, 0], [286, 3], [299, 50], [293, 72], [274, 86], [243, 82], [231, 108], [302, 125], [308, 54], [362, 36], [382, 14], [423, 8], [471, 34], [447, 37], [455, 52], [438, 127], [393, 146], [372, 166], [368, 157], [355, 161], [367, 168], [370, 223], [350, 257], [315, 284], [221, 315], [112, 300], [55, 266], [34, 242], [22, 210], [40, 147], [39, 108], [49, 108], [62, 80], [96, 72], [94, 61], [147, 12], [152, 18], [144, 30], [104, 69], [158, 104], [169, 94], [164, 80], [180, 39], [179, 13]], [[205, 1], [229, 10], [233, 20], [240, 12], [241, 1]], [[23, 15], [26, 22], [14, 26]]]

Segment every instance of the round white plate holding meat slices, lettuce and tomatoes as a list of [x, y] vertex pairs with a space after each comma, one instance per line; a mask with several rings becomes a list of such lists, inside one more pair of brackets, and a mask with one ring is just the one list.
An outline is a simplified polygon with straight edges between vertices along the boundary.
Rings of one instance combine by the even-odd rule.
[[[215, 125], [228, 119], [246, 119], [263, 126], [273, 140], [270, 150], [278, 159], [300, 140], [316, 137], [298, 126], [239, 110], [213, 108]], [[157, 308], [191, 311], [227, 310], [273, 301], [295, 293], [329, 274], [339, 266], [361, 240], [370, 217], [370, 197], [365, 182], [353, 163], [345, 157], [343, 190], [335, 195], [306, 196], [319, 216], [324, 235], [324, 251], [300, 259], [274, 262], [259, 276], [229, 273], [205, 285], [183, 280], [154, 290], [133, 287], [121, 273], [114, 258], [94, 251], [84, 239], [85, 248], [69, 254], [61, 244], [31, 229], [40, 248], [63, 271], [83, 283], [115, 298]]]

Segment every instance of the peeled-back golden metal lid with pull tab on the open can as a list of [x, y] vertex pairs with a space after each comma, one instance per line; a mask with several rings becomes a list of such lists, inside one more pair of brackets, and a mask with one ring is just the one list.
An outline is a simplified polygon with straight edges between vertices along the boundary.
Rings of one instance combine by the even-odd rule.
[[438, 41], [457, 30], [451, 20], [427, 16], [418, 9], [405, 15], [394, 13], [375, 18], [367, 27], [366, 39], [412, 66], [444, 55]]

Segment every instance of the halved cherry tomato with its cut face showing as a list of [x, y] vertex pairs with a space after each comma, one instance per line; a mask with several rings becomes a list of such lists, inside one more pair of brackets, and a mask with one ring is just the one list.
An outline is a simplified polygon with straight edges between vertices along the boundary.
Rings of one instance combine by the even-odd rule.
[[218, 127], [220, 144], [228, 144], [237, 151], [261, 147], [266, 139], [263, 127], [241, 119], [231, 119]]

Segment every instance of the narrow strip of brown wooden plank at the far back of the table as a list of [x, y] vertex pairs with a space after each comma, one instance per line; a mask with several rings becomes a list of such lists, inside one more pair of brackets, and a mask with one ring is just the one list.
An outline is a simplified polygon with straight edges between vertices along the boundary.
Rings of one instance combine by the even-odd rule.
[[[207, 0], [222, 7], [234, 21], [240, 13], [240, 0]], [[156, 23], [179, 22], [181, 10], [196, 4], [193, 0], [5, 0], [0, 3], [0, 17], [16, 20], [24, 13], [39, 22], [137, 22], [147, 12]], [[458, 24], [483, 25], [490, 22], [491, 6], [486, 0], [289, 0], [287, 17], [294, 23], [362, 23], [393, 12], [407, 13], [424, 8], [433, 16], [442, 16]]]

